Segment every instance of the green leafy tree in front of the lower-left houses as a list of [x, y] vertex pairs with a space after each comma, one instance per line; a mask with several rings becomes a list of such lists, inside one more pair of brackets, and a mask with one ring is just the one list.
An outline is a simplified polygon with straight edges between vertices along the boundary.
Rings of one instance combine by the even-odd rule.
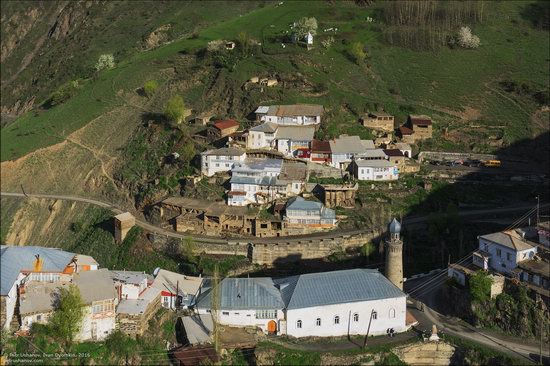
[[66, 346], [70, 346], [80, 330], [83, 318], [84, 302], [78, 287], [70, 285], [68, 288], [60, 288], [56, 309], [50, 318], [53, 334]]

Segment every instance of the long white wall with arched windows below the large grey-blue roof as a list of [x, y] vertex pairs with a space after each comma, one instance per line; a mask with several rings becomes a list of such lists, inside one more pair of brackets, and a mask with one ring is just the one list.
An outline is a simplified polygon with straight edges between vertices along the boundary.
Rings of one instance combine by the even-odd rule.
[[[346, 304], [310, 307], [287, 310], [287, 334], [293, 337], [334, 337], [348, 334], [366, 334], [371, 310], [377, 312], [373, 319], [370, 335], [386, 334], [387, 329], [396, 332], [406, 330], [406, 297], [361, 301]], [[395, 310], [395, 317], [390, 317], [390, 309]], [[354, 321], [354, 314], [359, 321]], [[351, 319], [350, 319], [351, 314]], [[334, 317], [340, 317], [339, 324], [334, 324]], [[316, 319], [321, 318], [321, 326]], [[297, 328], [297, 321], [302, 321], [302, 328]]]

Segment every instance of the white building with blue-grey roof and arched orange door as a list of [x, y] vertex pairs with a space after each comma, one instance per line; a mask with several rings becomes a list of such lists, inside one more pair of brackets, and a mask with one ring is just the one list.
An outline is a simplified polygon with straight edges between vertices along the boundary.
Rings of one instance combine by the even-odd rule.
[[212, 314], [215, 321], [234, 327], [260, 328], [276, 333], [284, 324], [285, 304], [273, 279], [224, 278], [219, 284], [219, 308], [212, 309], [212, 283], [205, 281], [195, 310], [199, 315]]

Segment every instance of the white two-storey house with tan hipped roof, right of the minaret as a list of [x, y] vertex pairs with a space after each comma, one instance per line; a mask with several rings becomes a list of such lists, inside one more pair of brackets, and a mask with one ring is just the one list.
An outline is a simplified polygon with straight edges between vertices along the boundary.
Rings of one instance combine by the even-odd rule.
[[479, 249], [474, 253], [473, 264], [503, 274], [512, 275], [518, 263], [533, 259], [537, 254], [537, 244], [515, 230], [481, 235], [478, 240]]

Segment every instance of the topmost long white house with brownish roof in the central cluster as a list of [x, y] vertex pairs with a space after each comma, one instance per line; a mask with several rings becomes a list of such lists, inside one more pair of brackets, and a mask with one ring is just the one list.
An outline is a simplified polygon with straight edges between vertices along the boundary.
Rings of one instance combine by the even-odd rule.
[[255, 113], [261, 122], [287, 126], [318, 125], [324, 108], [316, 104], [272, 105], [260, 106]]

